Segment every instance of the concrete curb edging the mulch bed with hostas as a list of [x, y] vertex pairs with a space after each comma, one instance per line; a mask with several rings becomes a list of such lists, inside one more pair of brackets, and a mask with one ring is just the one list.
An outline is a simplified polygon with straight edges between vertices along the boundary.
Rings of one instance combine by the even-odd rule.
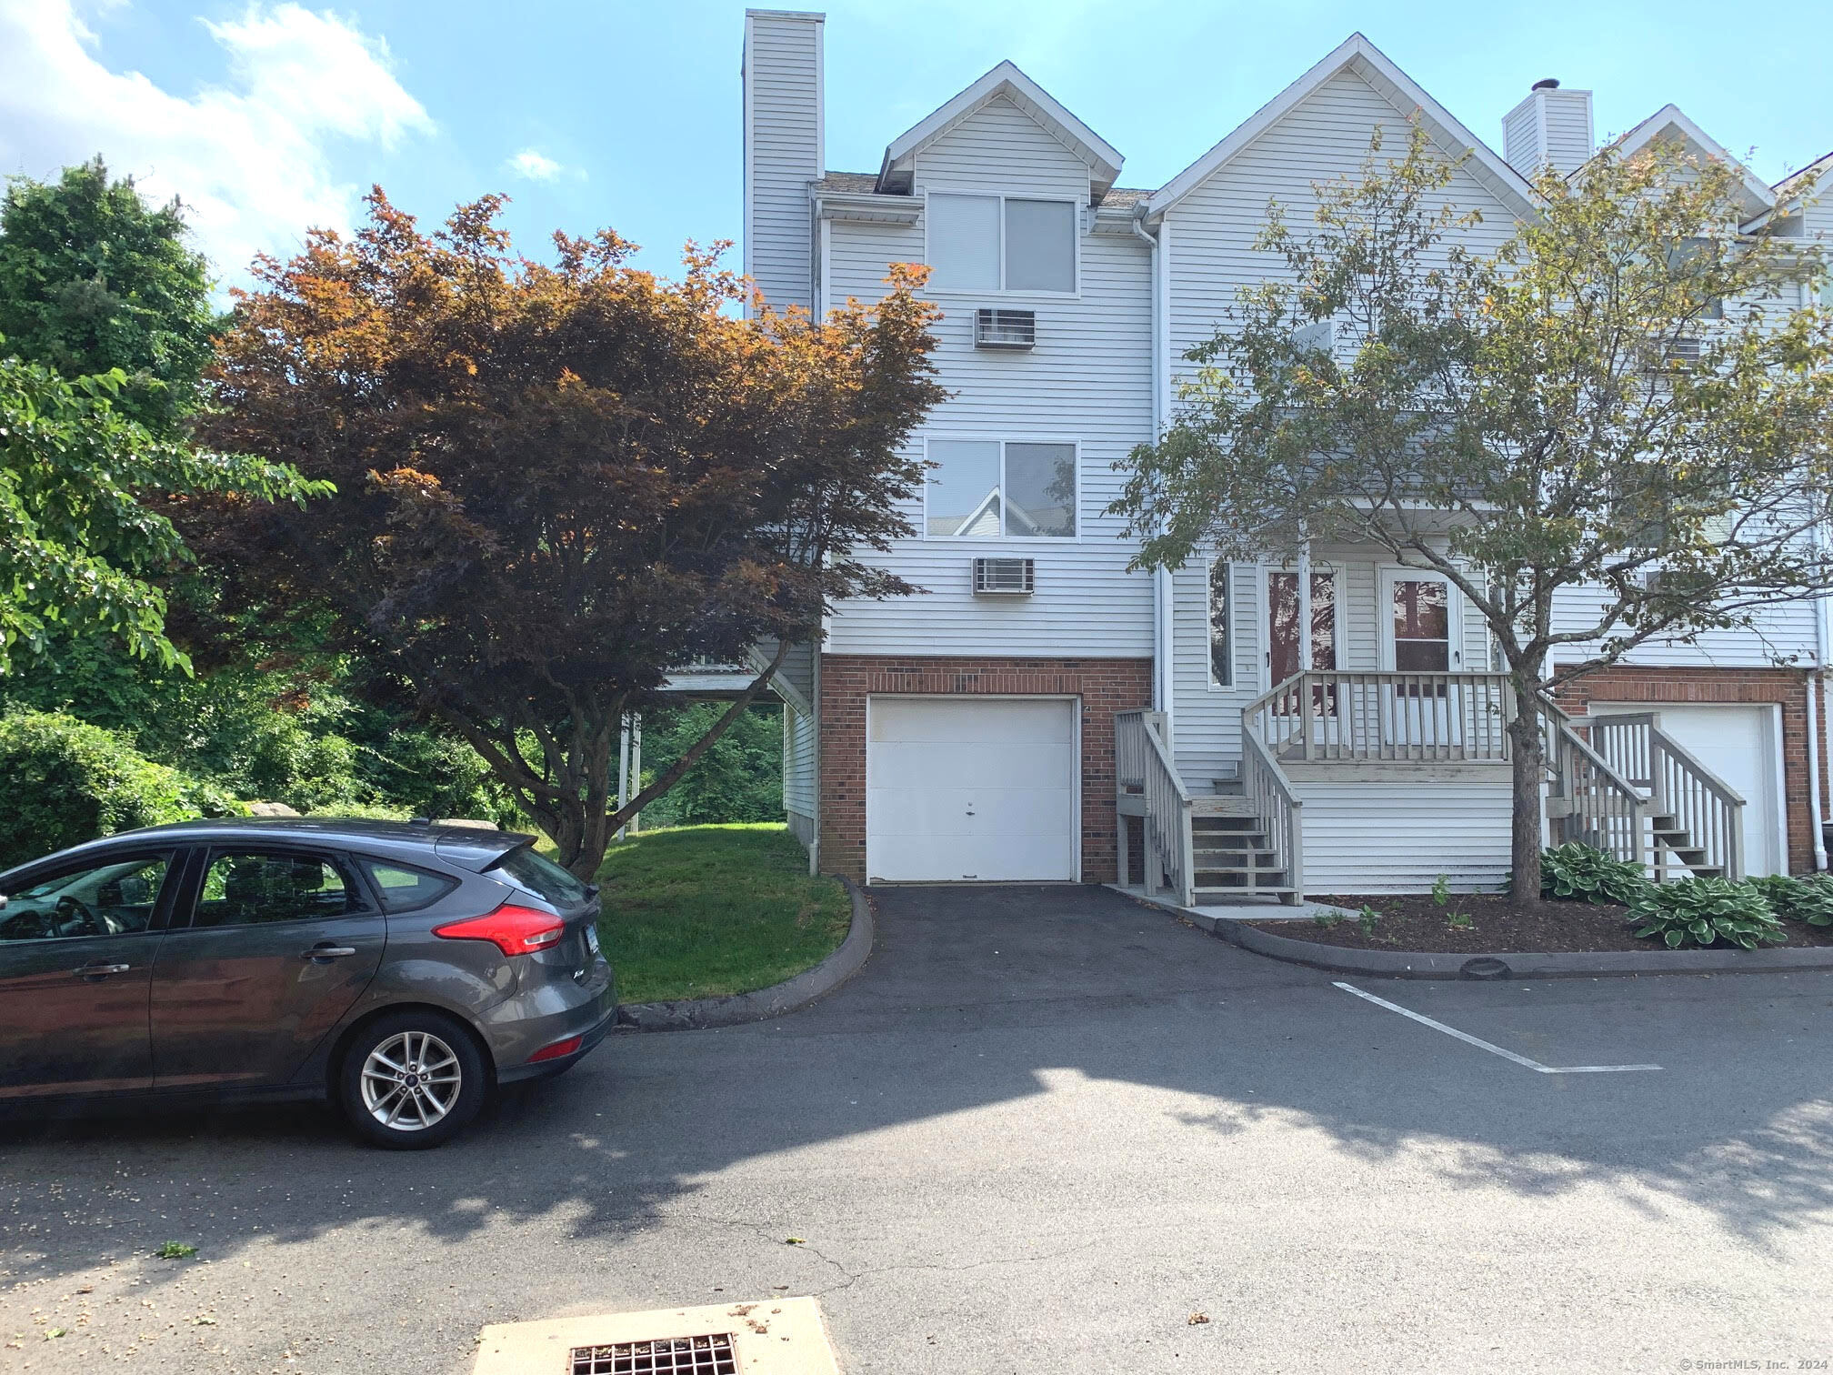
[[[1118, 891], [1118, 889], [1116, 889]], [[1422, 950], [1356, 950], [1320, 940], [1274, 935], [1234, 917], [1179, 908], [1171, 902], [1127, 893], [1136, 902], [1177, 913], [1219, 940], [1252, 950], [1287, 964], [1307, 964], [1333, 974], [1371, 974], [1382, 979], [1613, 979], [1642, 974], [1789, 974], [1833, 970], [1833, 946], [1798, 950], [1595, 950], [1595, 952], [1496, 952], [1492, 955], [1446, 955]]]

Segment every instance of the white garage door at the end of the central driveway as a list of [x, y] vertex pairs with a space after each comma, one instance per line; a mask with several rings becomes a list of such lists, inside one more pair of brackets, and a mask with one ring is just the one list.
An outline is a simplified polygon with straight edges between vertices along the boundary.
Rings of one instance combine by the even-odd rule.
[[1076, 878], [1076, 704], [1048, 698], [867, 702], [871, 878]]

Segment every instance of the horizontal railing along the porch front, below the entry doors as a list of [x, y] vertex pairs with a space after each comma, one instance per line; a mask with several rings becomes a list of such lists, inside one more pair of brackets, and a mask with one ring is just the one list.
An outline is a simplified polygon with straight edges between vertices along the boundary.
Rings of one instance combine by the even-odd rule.
[[1250, 702], [1250, 735], [1285, 763], [1507, 761], [1507, 673], [1312, 669]]

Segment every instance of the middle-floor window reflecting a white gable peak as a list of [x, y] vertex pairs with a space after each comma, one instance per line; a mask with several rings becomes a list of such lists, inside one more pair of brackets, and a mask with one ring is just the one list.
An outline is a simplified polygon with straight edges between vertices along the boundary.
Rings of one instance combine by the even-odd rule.
[[1074, 539], [1074, 444], [931, 438], [927, 455], [931, 539]]

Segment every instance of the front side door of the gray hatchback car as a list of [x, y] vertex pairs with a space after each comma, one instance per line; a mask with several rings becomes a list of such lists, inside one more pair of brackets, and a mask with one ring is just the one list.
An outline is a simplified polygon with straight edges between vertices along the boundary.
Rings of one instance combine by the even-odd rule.
[[0, 1098], [152, 1085], [147, 990], [174, 852], [26, 874], [0, 908]]

